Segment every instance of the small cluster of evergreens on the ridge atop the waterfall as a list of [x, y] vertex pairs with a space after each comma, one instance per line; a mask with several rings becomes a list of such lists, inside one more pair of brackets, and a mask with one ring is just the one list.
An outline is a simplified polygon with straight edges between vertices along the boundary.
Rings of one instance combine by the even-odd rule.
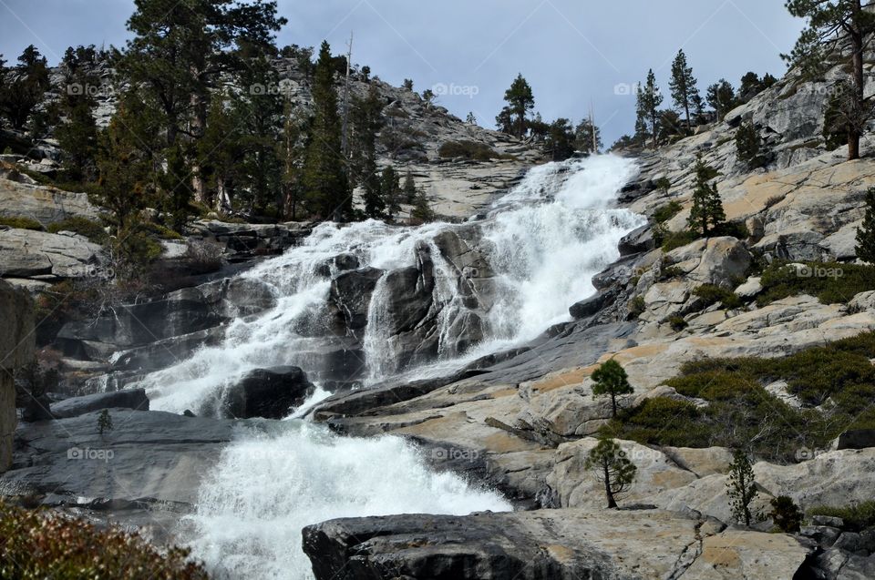
[[602, 148], [601, 132], [591, 119], [584, 118], [575, 125], [565, 117], [548, 123], [540, 117], [540, 113], [532, 116], [535, 97], [529, 82], [521, 74], [505, 91], [504, 100], [507, 105], [495, 117], [499, 131], [540, 145], [553, 161], [571, 158], [575, 153], [597, 153]]

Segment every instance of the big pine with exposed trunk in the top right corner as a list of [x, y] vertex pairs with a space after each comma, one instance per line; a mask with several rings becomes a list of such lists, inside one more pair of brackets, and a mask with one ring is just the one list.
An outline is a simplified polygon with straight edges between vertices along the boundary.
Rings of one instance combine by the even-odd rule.
[[[862, 0], [787, 0], [791, 15], [807, 20], [796, 46], [781, 55], [790, 66], [798, 66], [805, 76], [824, 72], [832, 60], [828, 56], [848, 55], [850, 87], [844, 92], [844, 112], [848, 136], [848, 158], [860, 158], [860, 136], [872, 117], [870, 99], [864, 94], [864, 53], [869, 36], [875, 32], [875, 13], [870, 2]], [[847, 46], [847, 48], [846, 48]]]

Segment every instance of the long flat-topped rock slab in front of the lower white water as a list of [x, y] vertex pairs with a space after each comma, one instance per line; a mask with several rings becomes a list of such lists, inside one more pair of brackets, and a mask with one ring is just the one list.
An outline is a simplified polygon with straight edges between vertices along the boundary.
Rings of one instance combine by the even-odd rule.
[[345, 518], [303, 534], [317, 580], [790, 580], [808, 554], [787, 535], [721, 530], [657, 510], [539, 510]]

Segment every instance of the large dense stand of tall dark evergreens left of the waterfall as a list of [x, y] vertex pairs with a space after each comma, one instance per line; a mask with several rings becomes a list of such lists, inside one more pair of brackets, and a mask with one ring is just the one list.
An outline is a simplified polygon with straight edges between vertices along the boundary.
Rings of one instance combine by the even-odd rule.
[[[345, 74], [345, 56], [332, 56], [326, 42], [315, 55], [277, 48], [284, 24], [275, 1], [137, 0], [127, 46], [67, 49], [54, 86], [34, 46], [15, 66], [0, 63], [0, 114], [15, 136], [26, 129], [32, 139], [57, 138], [57, 180], [109, 209], [113, 237], [125, 244], [139, 243], [146, 209], [177, 231], [208, 211], [391, 220], [411, 203], [415, 219], [432, 219], [411, 176], [402, 184], [394, 168], [377, 172], [385, 103], [376, 86], [350, 99], [344, 131], [335, 76]], [[297, 62], [312, 107], [283, 89], [272, 66], [279, 56]], [[370, 80], [367, 66], [355, 74]], [[116, 102], [104, 128], [95, 117], [100, 96]], [[354, 208], [356, 187], [364, 209]]]

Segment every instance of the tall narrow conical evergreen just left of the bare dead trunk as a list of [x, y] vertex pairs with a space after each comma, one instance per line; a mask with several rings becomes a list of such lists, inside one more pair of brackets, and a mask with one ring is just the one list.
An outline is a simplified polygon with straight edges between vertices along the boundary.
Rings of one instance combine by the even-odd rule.
[[349, 218], [352, 200], [341, 152], [335, 69], [331, 49], [323, 42], [313, 86], [314, 118], [304, 162], [307, 206], [315, 215], [340, 221]]

